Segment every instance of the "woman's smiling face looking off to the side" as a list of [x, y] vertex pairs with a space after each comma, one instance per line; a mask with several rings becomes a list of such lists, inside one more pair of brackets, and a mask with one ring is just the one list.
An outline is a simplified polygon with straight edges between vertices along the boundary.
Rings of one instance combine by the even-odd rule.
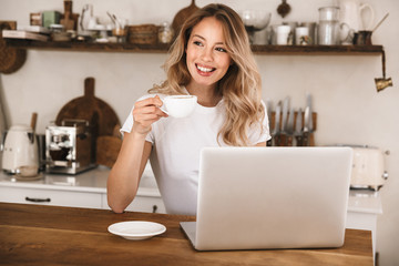
[[187, 42], [186, 64], [192, 76], [190, 85], [215, 86], [231, 62], [222, 23], [214, 17], [204, 18], [193, 28]]

